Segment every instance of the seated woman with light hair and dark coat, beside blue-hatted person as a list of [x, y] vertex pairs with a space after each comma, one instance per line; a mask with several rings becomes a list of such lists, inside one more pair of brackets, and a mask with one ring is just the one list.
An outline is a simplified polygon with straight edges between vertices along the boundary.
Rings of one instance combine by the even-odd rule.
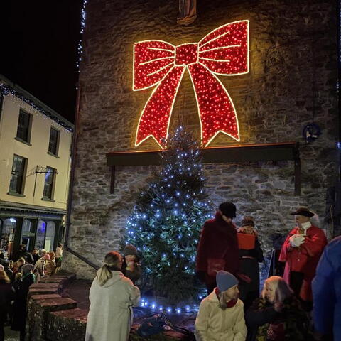
[[247, 341], [308, 341], [308, 315], [286, 281], [272, 276], [245, 315]]

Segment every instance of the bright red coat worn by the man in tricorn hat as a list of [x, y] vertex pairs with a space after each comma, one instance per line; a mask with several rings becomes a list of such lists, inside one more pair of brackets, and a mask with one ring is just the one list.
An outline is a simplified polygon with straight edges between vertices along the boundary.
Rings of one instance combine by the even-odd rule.
[[298, 227], [295, 227], [286, 237], [283, 243], [279, 261], [285, 261], [283, 278], [289, 284], [290, 271], [302, 272], [304, 275], [300, 296], [304, 301], [313, 301], [311, 292], [311, 281], [315, 277], [316, 267], [320, 256], [327, 245], [327, 238], [322, 229], [311, 225], [307, 229], [305, 242], [300, 247], [291, 247], [289, 238], [297, 234]]

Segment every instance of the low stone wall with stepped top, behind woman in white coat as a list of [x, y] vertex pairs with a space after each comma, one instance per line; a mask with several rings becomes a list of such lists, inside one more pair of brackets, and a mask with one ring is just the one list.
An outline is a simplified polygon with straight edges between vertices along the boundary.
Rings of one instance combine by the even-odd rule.
[[[53, 275], [41, 278], [39, 283], [30, 286], [26, 319], [26, 341], [75, 341], [85, 340], [87, 309], [77, 308], [72, 298], [62, 297], [60, 293], [75, 278], [74, 274]], [[183, 334], [165, 330], [152, 337], [139, 337], [135, 324], [131, 328], [131, 341], [188, 340]]]

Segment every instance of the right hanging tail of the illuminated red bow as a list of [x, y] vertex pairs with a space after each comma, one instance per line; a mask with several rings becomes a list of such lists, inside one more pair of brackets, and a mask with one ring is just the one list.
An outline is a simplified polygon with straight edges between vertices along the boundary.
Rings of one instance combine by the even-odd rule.
[[200, 63], [188, 65], [201, 124], [202, 146], [206, 147], [221, 131], [239, 141], [236, 110], [222, 82]]

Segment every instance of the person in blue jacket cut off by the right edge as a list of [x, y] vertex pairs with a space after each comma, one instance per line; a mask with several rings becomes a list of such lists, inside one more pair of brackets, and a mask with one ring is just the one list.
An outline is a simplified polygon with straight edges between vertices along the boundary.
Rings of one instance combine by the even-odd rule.
[[325, 247], [313, 279], [313, 320], [320, 340], [341, 340], [341, 236]]

